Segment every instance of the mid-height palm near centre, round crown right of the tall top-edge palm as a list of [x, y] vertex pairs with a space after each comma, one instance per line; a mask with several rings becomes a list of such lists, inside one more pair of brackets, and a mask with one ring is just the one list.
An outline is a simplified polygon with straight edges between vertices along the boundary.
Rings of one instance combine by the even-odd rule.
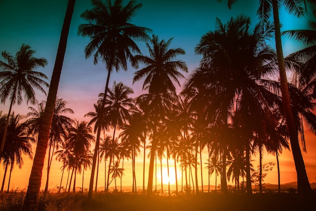
[[[153, 121], [155, 122], [153, 124], [155, 125], [154, 127], [157, 127], [156, 124], [157, 122], [159, 122], [159, 119], [162, 119], [165, 116], [165, 114], [162, 113], [165, 109], [162, 111], [156, 110], [155, 112], [153, 112], [154, 110], [152, 110], [153, 108], [157, 107], [157, 105], [162, 104], [162, 101], [159, 102], [157, 101], [157, 99], [162, 97], [166, 99], [174, 98], [172, 97], [172, 95], [175, 95], [176, 88], [172, 80], [180, 86], [178, 78], [184, 78], [184, 76], [178, 71], [178, 69], [184, 72], [188, 71], [188, 67], [185, 64], [185, 62], [172, 61], [175, 57], [179, 55], [184, 55], [185, 51], [182, 48], [169, 49], [171, 41], [172, 39], [169, 39], [168, 41], [160, 41], [158, 36], [152, 35], [152, 38], [150, 40], [151, 46], [149, 45], [149, 43], [146, 43], [146, 46], [149, 51], [149, 57], [142, 55], [135, 56], [135, 59], [140, 63], [146, 65], [146, 67], [135, 72], [133, 83], [145, 77], [143, 83], [143, 90], [148, 90], [148, 94], [140, 96], [139, 100], [142, 102], [148, 102], [148, 104], [145, 105], [145, 107], [147, 108], [141, 108], [145, 112], [145, 115], [148, 115], [148, 110], [151, 110], [151, 115], [156, 116], [156, 120]], [[170, 96], [167, 96], [168, 94], [170, 94]], [[151, 106], [149, 103], [151, 103]], [[166, 108], [166, 104], [163, 103], [162, 105]], [[150, 107], [152, 108], [150, 109]], [[153, 133], [155, 133], [156, 130], [156, 128], [153, 128]], [[157, 140], [156, 134], [154, 134], [151, 145], [152, 152], [155, 152], [156, 146]], [[155, 153], [151, 153], [150, 156], [149, 177], [147, 187], [148, 195], [150, 195], [152, 192], [154, 154]]]

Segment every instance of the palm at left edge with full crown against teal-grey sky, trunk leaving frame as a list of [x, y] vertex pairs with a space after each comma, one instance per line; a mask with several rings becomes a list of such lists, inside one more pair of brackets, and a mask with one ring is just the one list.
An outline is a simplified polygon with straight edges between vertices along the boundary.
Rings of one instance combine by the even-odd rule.
[[35, 90], [33, 87], [46, 94], [42, 86], [48, 87], [48, 83], [41, 78], [46, 80], [48, 78], [45, 74], [34, 71], [34, 69], [45, 67], [47, 60], [34, 57], [35, 52], [35, 50], [32, 50], [31, 47], [26, 44], [22, 44], [15, 56], [12, 56], [10, 52], [6, 50], [2, 51], [2, 57], [7, 63], [0, 61], [0, 100], [5, 104], [9, 97], [10, 107], [0, 146], [0, 156], [6, 141], [12, 106], [15, 103], [22, 103], [23, 93], [27, 102], [30, 101], [32, 104], [35, 104]]

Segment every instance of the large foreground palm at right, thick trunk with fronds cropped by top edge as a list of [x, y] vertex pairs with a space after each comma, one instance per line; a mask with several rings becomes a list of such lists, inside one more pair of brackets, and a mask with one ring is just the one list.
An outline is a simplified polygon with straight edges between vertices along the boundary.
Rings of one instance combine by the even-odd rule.
[[[236, 0], [228, 0], [228, 6], [231, 7]], [[281, 24], [279, 19], [279, 8], [283, 5], [285, 9], [297, 17], [303, 16], [306, 13], [306, 2], [305, 0], [300, 1], [279, 1], [279, 0], [260, 0], [259, 8], [257, 14], [259, 19], [266, 22], [272, 15], [275, 25], [275, 42], [277, 50], [277, 59], [279, 66], [280, 82], [281, 82], [281, 93], [282, 93], [282, 103], [283, 110], [285, 114], [286, 124], [289, 131], [291, 149], [293, 154], [293, 159], [295, 163], [295, 168], [297, 172], [297, 180], [300, 184], [299, 189], [303, 197], [311, 194], [311, 187], [306, 174], [305, 164], [303, 156], [299, 146], [298, 134], [296, 130], [296, 125], [291, 109], [291, 100], [288, 88], [288, 81], [286, 77], [286, 68], [284, 63], [282, 42], [281, 42]], [[308, 1], [309, 3], [315, 5], [313, 1]]]

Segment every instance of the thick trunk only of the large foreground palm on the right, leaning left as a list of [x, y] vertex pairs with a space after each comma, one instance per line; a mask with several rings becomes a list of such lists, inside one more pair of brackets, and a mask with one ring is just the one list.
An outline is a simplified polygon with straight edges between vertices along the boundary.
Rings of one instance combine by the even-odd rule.
[[306, 174], [305, 164], [303, 156], [299, 147], [297, 127], [294, 123], [293, 113], [291, 110], [291, 101], [288, 89], [288, 82], [285, 71], [283, 49], [281, 42], [281, 30], [280, 30], [280, 20], [279, 20], [279, 9], [278, 9], [278, 0], [272, 1], [273, 6], [273, 18], [275, 25], [275, 41], [277, 49], [277, 57], [280, 71], [280, 82], [281, 82], [281, 93], [282, 93], [282, 103], [286, 119], [286, 124], [290, 136], [291, 149], [293, 154], [293, 159], [295, 163], [295, 169], [297, 172], [297, 181], [300, 186], [301, 195], [306, 198], [312, 194], [312, 190], [308, 181]]

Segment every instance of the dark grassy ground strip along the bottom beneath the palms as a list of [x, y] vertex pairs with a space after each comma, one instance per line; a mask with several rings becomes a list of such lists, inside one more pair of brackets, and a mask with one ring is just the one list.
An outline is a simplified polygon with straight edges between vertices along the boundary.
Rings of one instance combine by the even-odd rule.
[[[23, 192], [0, 193], [0, 210], [20, 210], [24, 197]], [[100, 192], [94, 194], [92, 201], [88, 201], [85, 193], [48, 193], [41, 194], [39, 210], [316, 210], [316, 195], [311, 198], [311, 201], [303, 201], [297, 193], [264, 193], [251, 196], [203, 193], [147, 197], [143, 194]]]

